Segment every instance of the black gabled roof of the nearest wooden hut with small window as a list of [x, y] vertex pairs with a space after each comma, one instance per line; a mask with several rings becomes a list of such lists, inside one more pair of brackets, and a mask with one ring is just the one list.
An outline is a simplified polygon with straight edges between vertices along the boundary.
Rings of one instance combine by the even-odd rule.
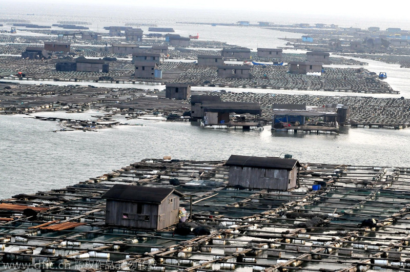
[[183, 196], [182, 193], [172, 188], [115, 184], [102, 198], [159, 204], [171, 193]]

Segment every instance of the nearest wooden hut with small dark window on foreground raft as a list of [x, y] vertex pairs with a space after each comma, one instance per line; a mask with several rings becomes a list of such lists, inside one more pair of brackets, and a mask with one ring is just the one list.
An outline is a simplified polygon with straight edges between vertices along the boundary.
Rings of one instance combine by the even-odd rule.
[[107, 199], [106, 224], [163, 229], [178, 222], [179, 197], [172, 188], [115, 184]]

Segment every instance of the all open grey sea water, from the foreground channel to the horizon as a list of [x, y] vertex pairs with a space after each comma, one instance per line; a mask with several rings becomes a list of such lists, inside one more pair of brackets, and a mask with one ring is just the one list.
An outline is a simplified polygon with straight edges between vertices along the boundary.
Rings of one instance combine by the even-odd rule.
[[[34, 13], [35, 15], [26, 15]], [[72, 14], [72, 15], [70, 15]], [[149, 15], [147, 15], [149, 14]], [[38, 5], [30, 9], [25, 5], [15, 8], [15, 3], [2, 4], [2, 18], [28, 18], [32, 23], [57, 23], [58, 20], [85, 20], [91, 28], [124, 25], [125, 22], [152, 23], [173, 27], [177, 33], [199, 33], [201, 39], [227, 41], [228, 43], [256, 47], [283, 46], [278, 37], [300, 37], [257, 28], [211, 27], [205, 25], [176, 24], [187, 22], [232, 23], [238, 20], [267, 20], [280, 24], [317, 23], [317, 17], [295, 17], [274, 14], [247, 14], [225, 12], [181, 12], [177, 10], [115, 10], [104, 6], [76, 9], [64, 5]], [[181, 19], [183, 18], [183, 19]], [[402, 21], [394, 26], [385, 22], [359, 19], [323, 18], [326, 24], [340, 26], [400, 26], [410, 29]], [[8, 29], [8, 26], [3, 29]], [[148, 27], [142, 27], [147, 30]], [[398, 65], [368, 61], [368, 69], [387, 72], [387, 82], [401, 95], [410, 98], [408, 90], [410, 69]], [[115, 86], [116, 88], [119, 86]], [[127, 86], [128, 87], [128, 86]], [[158, 88], [144, 86], [144, 88]], [[204, 88], [198, 88], [198, 90]], [[210, 89], [211, 90], [211, 89]], [[215, 89], [213, 89], [215, 90]], [[260, 90], [231, 90], [260, 91]], [[275, 91], [272, 91], [275, 92]], [[293, 92], [296, 93], [296, 92]], [[306, 93], [303, 91], [297, 92]], [[309, 94], [321, 94], [309, 92]], [[325, 93], [326, 95], [334, 95]], [[337, 95], [346, 95], [337, 93]], [[356, 94], [352, 94], [356, 95]], [[399, 96], [401, 96], [399, 95]], [[385, 97], [386, 95], [378, 95]], [[395, 96], [397, 97], [397, 96]], [[93, 113], [68, 114], [62, 112], [38, 113], [42, 116], [91, 118]], [[189, 122], [163, 122], [133, 120], [144, 126], [120, 126], [98, 132], [58, 132], [56, 122], [39, 121], [22, 115], [0, 116], [0, 199], [18, 193], [34, 193], [64, 187], [96, 177], [144, 158], [172, 156], [178, 159], [222, 160], [231, 154], [278, 156], [292, 154], [303, 162], [346, 163], [360, 165], [409, 166], [410, 130], [345, 129], [340, 135], [272, 134], [264, 131], [207, 130]]]

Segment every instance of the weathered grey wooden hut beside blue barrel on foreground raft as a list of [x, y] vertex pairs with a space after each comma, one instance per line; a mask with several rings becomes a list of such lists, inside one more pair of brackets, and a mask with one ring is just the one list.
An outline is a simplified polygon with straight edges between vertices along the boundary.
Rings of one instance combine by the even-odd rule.
[[299, 184], [299, 167], [295, 159], [231, 155], [229, 185], [249, 189], [287, 191]]

